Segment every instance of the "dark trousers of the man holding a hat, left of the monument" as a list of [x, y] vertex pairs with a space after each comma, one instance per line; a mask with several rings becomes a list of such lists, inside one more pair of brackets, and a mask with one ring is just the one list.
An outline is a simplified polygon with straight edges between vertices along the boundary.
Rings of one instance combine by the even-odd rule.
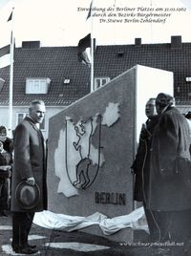
[[24, 247], [32, 227], [34, 212], [12, 212], [12, 247]]

